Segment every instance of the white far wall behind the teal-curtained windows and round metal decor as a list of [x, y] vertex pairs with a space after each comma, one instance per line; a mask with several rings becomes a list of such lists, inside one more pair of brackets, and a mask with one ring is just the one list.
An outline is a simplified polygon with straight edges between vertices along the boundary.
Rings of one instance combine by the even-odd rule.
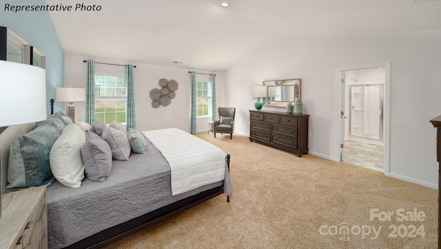
[[[85, 87], [87, 68], [83, 63], [84, 56], [72, 54], [65, 55], [65, 86]], [[105, 59], [93, 58], [97, 62], [127, 64], [121, 61], [106, 61]], [[181, 67], [167, 67], [162, 65], [148, 65], [142, 63], [131, 63], [136, 65], [134, 68], [134, 87], [135, 87], [135, 109], [136, 109], [136, 129], [147, 131], [152, 129], [163, 129], [176, 127], [189, 131], [190, 126], [190, 85], [189, 69]], [[114, 65], [95, 64], [95, 73], [124, 74], [124, 67]], [[204, 72], [195, 69], [196, 72]], [[218, 106], [222, 105], [223, 73], [216, 73], [216, 97]], [[196, 74], [196, 78], [200, 76]], [[176, 80], [179, 84], [176, 91], [176, 98], [167, 107], [152, 107], [150, 90], [161, 87], [158, 81], [161, 78]], [[85, 120], [85, 102], [75, 102], [77, 121]], [[198, 119], [197, 130], [207, 131], [207, 119]]]

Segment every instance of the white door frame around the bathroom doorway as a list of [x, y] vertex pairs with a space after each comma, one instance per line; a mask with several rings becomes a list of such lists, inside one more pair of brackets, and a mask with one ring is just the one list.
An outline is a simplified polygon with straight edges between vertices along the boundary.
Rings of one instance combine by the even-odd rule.
[[[336, 104], [335, 104], [335, 122], [336, 131], [335, 138], [336, 144], [335, 155], [336, 160], [341, 161], [340, 153], [340, 142], [342, 138], [342, 118], [341, 118], [341, 106], [343, 101], [342, 96], [342, 72], [351, 71], [356, 69], [369, 69], [374, 67], [384, 67], [385, 71], [385, 82], [384, 82], [384, 175], [389, 176], [390, 174], [390, 123], [391, 123], [391, 63], [379, 63], [373, 65], [364, 66], [353, 66], [353, 67], [342, 67], [336, 69]], [[345, 113], [346, 114], [346, 113]]]

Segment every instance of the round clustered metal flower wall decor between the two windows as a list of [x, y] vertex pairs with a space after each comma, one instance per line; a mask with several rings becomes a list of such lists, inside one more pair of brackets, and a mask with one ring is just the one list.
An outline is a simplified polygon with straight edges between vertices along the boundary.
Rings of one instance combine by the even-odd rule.
[[176, 80], [167, 80], [161, 78], [159, 80], [159, 86], [161, 89], [154, 88], [150, 90], [150, 98], [152, 99], [152, 107], [158, 108], [161, 105], [166, 107], [170, 105], [172, 99], [176, 97], [176, 90], [178, 89], [178, 82]]

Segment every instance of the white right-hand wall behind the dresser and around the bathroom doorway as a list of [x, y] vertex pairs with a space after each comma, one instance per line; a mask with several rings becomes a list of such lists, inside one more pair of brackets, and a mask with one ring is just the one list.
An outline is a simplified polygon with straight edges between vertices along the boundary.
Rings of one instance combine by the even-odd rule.
[[[296, 37], [279, 41], [225, 73], [225, 102], [237, 107], [238, 133], [249, 133], [252, 85], [302, 78], [309, 117], [309, 151], [336, 155], [336, 69], [391, 63], [390, 175], [438, 186], [435, 128], [441, 114], [441, 30]], [[267, 109], [267, 107], [263, 107]], [[284, 109], [279, 109], [285, 111]]]

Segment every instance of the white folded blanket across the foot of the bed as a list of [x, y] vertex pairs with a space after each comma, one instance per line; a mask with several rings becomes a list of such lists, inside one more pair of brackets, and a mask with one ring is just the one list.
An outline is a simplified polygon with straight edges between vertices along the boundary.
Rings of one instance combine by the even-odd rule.
[[172, 194], [224, 180], [224, 192], [232, 195], [226, 154], [218, 147], [176, 128], [144, 131], [170, 164]]

